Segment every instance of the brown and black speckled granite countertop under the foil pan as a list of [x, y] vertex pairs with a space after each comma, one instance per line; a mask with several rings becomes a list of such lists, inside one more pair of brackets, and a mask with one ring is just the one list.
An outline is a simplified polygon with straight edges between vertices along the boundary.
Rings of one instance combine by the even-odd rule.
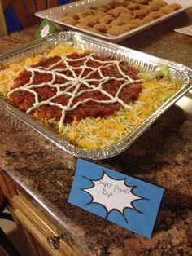
[[[127, 39], [122, 45], [192, 68], [192, 38], [173, 32], [174, 28], [187, 24], [191, 24], [190, 17], [183, 13]], [[0, 51], [30, 42], [36, 30], [37, 27], [29, 28], [0, 38]], [[191, 124], [192, 113], [173, 105], [128, 150], [117, 157], [95, 161], [164, 187], [150, 240], [68, 204], [76, 157], [1, 108], [0, 167], [85, 255], [190, 255]]]

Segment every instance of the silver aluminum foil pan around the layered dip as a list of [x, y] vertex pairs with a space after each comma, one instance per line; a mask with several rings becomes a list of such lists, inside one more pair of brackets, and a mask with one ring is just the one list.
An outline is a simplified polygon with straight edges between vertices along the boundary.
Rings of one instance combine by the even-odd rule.
[[142, 135], [142, 133], [149, 126], [151, 126], [151, 124], [158, 119], [160, 115], [170, 108], [172, 104], [177, 101], [177, 99], [180, 99], [181, 96], [185, 95], [185, 93], [191, 89], [192, 70], [182, 64], [156, 58], [139, 51], [133, 51], [129, 48], [118, 46], [111, 42], [104, 42], [100, 39], [91, 38], [87, 35], [71, 31], [55, 33], [50, 37], [38, 39], [28, 45], [0, 55], [0, 68], [1, 64], [3, 63], [14, 62], [16, 59], [22, 56], [32, 56], [37, 54], [37, 52], [43, 51], [48, 46], [56, 46], [63, 42], [68, 42], [69, 45], [75, 46], [78, 49], [89, 50], [98, 55], [112, 55], [116, 58], [124, 59], [129, 64], [137, 64], [142, 68], [145, 68], [147, 71], [158, 70], [158, 63], [164, 63], [170, 69], [172, 77], [179, 79], [182, 84], [181, 89], [178, 90], [175, 95], [172, 95], [168, 101], [162, 104], [154, 113], [151, 114], [151, 116], [147, 117], [146, 120], [143, 121], [142, 124], [137, 127], [137, 129], [133, 130], [133, 132], [125, 139], [109, 148], [102, 148], [98, 150], [76, 148], [67, 141], [59, 138], [58, 135], [48, 130], [45, 126], [42, 126], [37, 121], [33, 120], [33, 118], [28, 117], [27, 114], [22, 113], [19, 109], [11, 106], [11, 104], [8, 104], [4, 99], [0, 99], [0, 107], [5, 109], [8, 113], [11, 113], [11, 115], [20, 119], [20, 121], [23, 121], [28, 126], [31, 126], [34, 130], [37, 130], [37, 132], [46, 137], [46, 139], [49, 139], [52, 143], [55, 143], [57, 147], [62, 148], [65, 152], [68, 152], [76, 157], [103, 159], [113, 157], [120, 154], [120, 152], [124, 152], [124, 150], [129, 148], [129, 146], [140, 135]]

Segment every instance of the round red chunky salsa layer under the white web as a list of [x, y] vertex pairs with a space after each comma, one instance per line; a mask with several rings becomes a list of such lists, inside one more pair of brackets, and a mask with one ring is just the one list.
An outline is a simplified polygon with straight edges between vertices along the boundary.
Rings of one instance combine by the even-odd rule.
[[[89, 53], [74, 53], [67, 59], [55, 56], [27, 68], [11, 87], [13, 91], [8, 95], [11, 104], [24, 112], [32, 108], [30, 114], [35, 113], [37, 120], [55, 121], [60, 120], [63, 107], [67, 106], [63, 123], [72, 123], [74, 119], [108, 117], [120, 108], [120, 100], [124, 104], [137, 100], [142, 91], [137, 68], [125, 61], [116, 64], [111, 57], [89, 56]], [[126, 76], [133, 81], [122, 86]], [[120, 100], [111, 102], [116, 96]]]

